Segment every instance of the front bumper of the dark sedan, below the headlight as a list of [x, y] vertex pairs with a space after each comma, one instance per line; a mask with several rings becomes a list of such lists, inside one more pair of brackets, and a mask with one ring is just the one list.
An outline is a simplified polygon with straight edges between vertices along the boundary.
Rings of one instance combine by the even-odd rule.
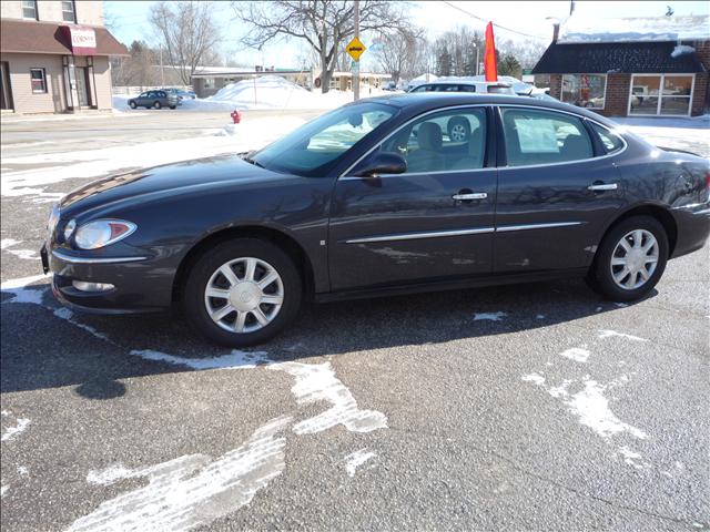
[[[42, 269], [51, 272], [52, 293], [68, 307], [92, 314], [155, 313], [170, 308], [174, 272], [145, 256], [100, 256], [47, 245]], [[105, 291], [83, 291], [73, 280], [108, 283]]]

